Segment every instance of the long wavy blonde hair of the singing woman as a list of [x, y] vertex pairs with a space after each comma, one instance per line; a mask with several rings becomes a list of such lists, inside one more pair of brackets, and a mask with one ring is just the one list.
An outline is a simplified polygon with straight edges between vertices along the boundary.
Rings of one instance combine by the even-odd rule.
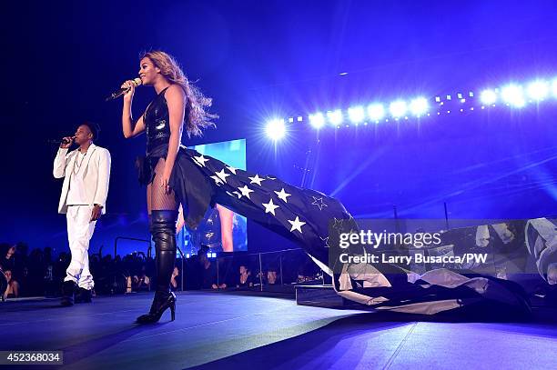
[[215, 124], [212, 120], [217, 119], [218, 115], [210, 114], [207, 111], [207, 108], [212, 105], [212, 99], [203, 95], [197, 86], [187, 80], [187, 76], [177, 64], [176, 59], [160, 50], [145, 52], [139, 60], [146, 57], [160, 69], [160, 74], [164, 75], [170, 84], [180, 85], [186, 93], [184, 123], [187, 136], [199, 136], [202, 135], [204, 128], [214, 127]]

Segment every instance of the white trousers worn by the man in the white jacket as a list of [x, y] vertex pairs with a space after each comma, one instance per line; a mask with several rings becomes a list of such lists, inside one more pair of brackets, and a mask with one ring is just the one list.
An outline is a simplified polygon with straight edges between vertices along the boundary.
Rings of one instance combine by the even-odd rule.
[[95, 283], [89, 271], [89, 240], [95, 231], [96, 221], [90, 222], [93, 205], [67, 207], [67, 239], [72, 261], [67, 266], [64, 281], [74, 281], [80, 288], [90, 290]]

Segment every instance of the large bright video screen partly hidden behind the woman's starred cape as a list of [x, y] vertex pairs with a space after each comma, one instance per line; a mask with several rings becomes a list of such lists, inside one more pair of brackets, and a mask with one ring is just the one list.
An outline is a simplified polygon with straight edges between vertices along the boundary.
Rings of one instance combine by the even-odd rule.
[[[246, 140], [189, 146], [202, 155], [209, 155], [239, 169], [246, 169]], [[248, 250], [247, 220], [222, 205], [209, 208], [197, 230], [183, 226], [177, 235], [185, 254], [197, 255], [200, 248], [208, 253]]]

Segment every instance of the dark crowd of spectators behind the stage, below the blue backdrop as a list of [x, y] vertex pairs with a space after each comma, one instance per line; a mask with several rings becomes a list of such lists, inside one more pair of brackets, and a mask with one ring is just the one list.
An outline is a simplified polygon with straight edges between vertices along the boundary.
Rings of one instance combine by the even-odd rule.
[[[144, 252], [129, 255], [90, 254], [94, 295], [147, 292], [156, 283], [155, 261]], [[25, 243], [0, 245], [2, 300], [19, 297], [56, 297], [70, 262], [69, 252], [30, 249]], [[185, 271], [185, 274], [183, 274]], [[213, 255], [202, 249], [182, 259], [178, 255], [170, 288], [180, 290], [281, 291], [297, 283], [321, 282], [319, 268], [299, 250], [271, 254], [245, 252]], [[284, 289], [282, 289], [284, 290]], [[291, 289], [290, 289], [291, 291]]]

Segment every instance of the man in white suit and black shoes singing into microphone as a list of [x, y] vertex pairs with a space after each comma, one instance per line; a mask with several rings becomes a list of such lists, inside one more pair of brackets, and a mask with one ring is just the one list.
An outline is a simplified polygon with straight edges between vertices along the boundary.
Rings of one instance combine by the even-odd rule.
[[[67, 238], [72, 260], [66, 270], [62, 288], [62, 305], [90, 303], [95, 285], [89, 271], [89, 240], [96, 220], [106, 213], [106, 195], [110, 178], [110, 153], [93, 144], [98, 126], [79, 125], [73, 137], [64, 137], [54, 162], [55, 178], [64, 177], [58, 213], [66, 214]], [[79, 147], [68, 153], [76, 143]]]

